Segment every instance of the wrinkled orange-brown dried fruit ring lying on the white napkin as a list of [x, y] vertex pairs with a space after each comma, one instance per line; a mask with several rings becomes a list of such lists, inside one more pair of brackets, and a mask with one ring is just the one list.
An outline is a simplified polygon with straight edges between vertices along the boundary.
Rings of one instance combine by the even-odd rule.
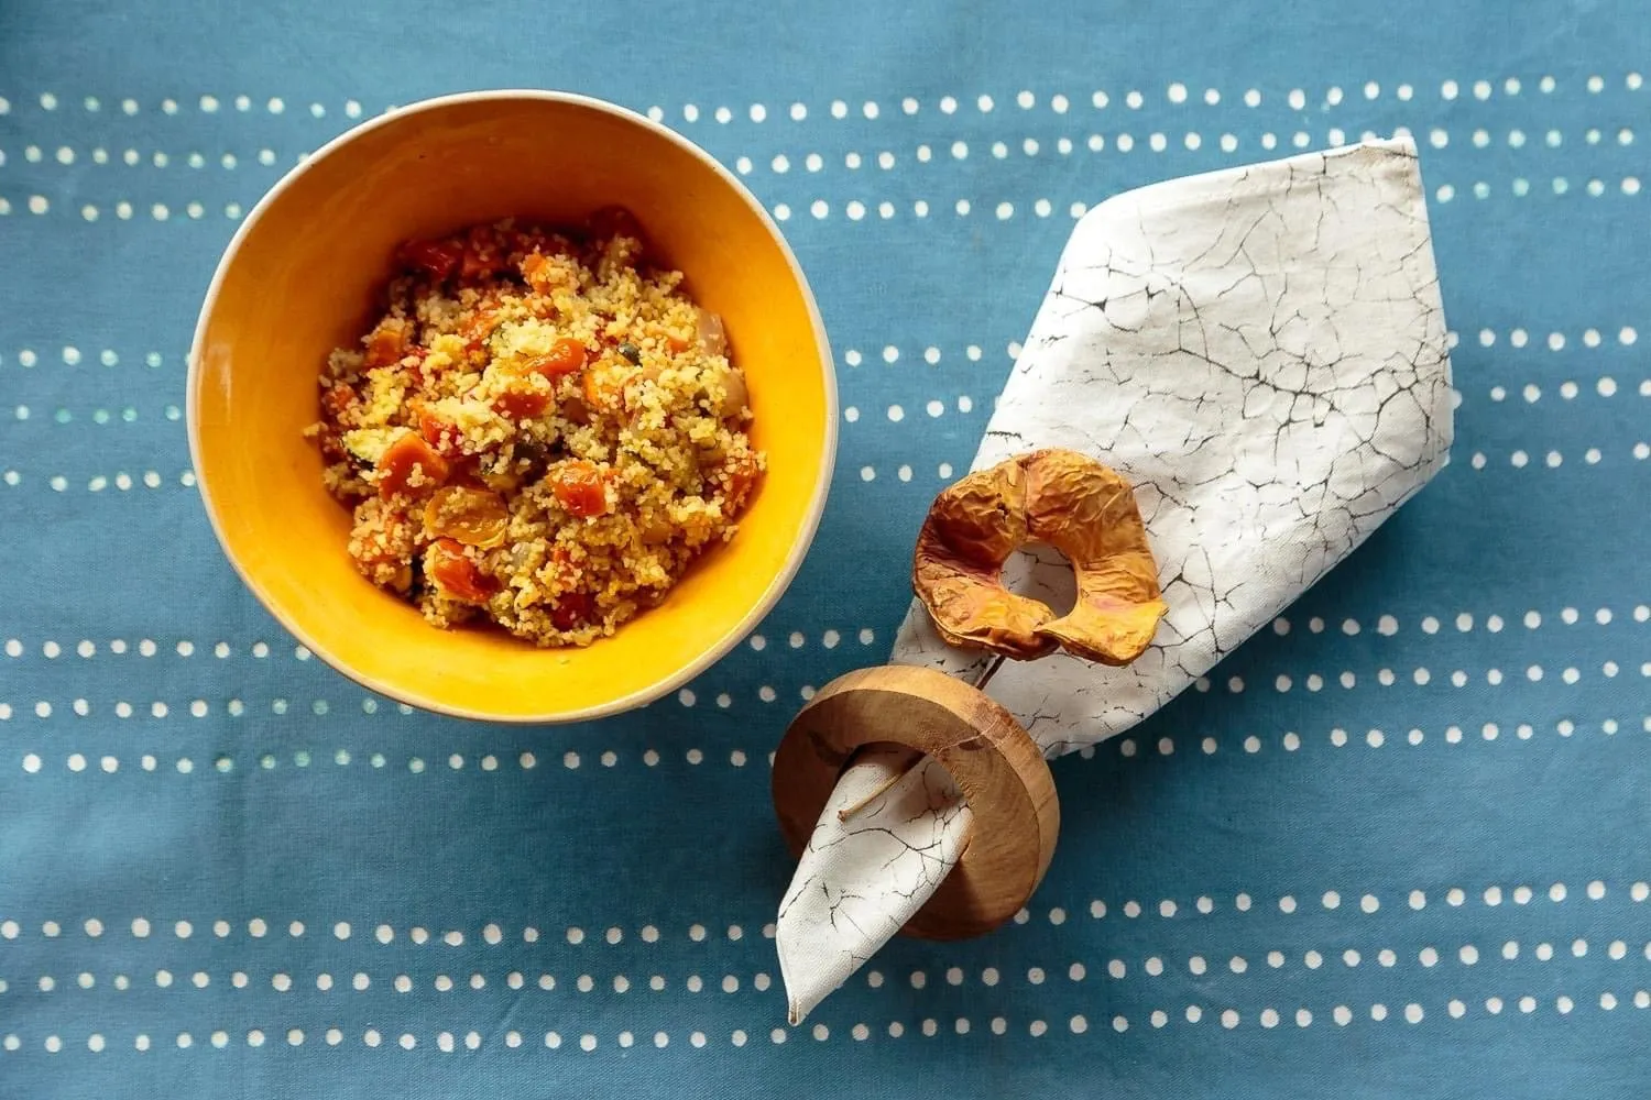
[[[1029, 543], [1071, 562], [1078, 599], [1070, 613], [1004, 587], [1004, 562]], [[1134, 490], [1073, 450], [1017, 455], [946, 488], [918, 534], [911, 581], [948, 643], [1015, 660], [1060, 646], [1128, 665], [1167, 610]]]

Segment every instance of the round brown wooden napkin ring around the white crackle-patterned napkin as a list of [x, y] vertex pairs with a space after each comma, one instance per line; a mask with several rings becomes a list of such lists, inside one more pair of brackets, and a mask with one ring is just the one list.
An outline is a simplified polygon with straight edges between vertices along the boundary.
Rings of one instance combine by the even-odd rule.
[[895, 742], [938, 760], [974, 816], [958, 867], [901, 932], [959, 940], [997, 928], [1043, 881], [1060, 831], [1055, 778], [991, 696], [930, 668], [862, 668], [826, 684], [774, 754], [774, 810], [802, 854], [849, 757]]

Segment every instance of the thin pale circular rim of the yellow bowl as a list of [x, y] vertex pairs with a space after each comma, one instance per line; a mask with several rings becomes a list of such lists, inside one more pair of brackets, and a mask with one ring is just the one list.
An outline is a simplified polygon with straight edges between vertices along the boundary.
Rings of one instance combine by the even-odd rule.
[[[692, 155], [695, 160], [698, 160], [702, 165], [710, 168], [717, 175], [717, 178], [720, 178], [721, 183], [728, 186], [740, 198], [740, 201], [743, 201], [746, 208], [751, 209], [753, 214], [756, 214], [758, 221], [768, 231], [768, 236], [779, 247], [779, 252], [784, 257], [786, 266], [791, 269], [792, 279], [796, 279], [797, 289], [802, 292], [804, 305], [807, 307], [809, 323], [814, 328], [816, 351], [819, 355], [822, 368], [822, 381], [826, 384], [826, 394], [824, 394], [826, 432], [821, 440], [821, 472], [814, 483], [812, 496], [809, 498], [809, 510], [807, 515], [802, 518], [802, 524], [796, 531], [786, 561], [781, 564], [779, 571], [769, 581], [768, 589], [763, 592], [761, 599], [758, 599], [758, 602], [740, 618], [740, 622], [735, 623], [735, 627], [728, 630], [718, 642], [710, 645], [695, 660], [680, 666], [674, 673], [662, 676], [650, 686], [639, 688], [608, 703], [586, 706], [578, 711], [550, 711], [540, 714], [497, 714], [462, 706], [452, 706], [449, 703], [444, 703], [438, 698], [433, 698], [419, 691], [395, 689], [375, 676], [367, 676], [358, 670], [350, 668], [345, 661], [338, 660], [327, 646], [319, 645], [309, 630], [305, 630], [300, 623], [297, 623], [292, 617], [289, 617], [286, 609], [277, 607], [276, 602], [269, 597], [269, 592], [259, 582], [259, 579], [248, 572], [239, 557], [229, 548], [229, 539], [225, 534], [223, 521], [220, 519], [218, 508], [213, 501], [211, 480], [206, 477], [205, 467], [201, 465], [201, 450], [200, 450], [201, 351], [206, 338], [208, 320], [213, 315], [213, 310], [218, 303], [218, 295], [228, 277], [229, 267], [234, 264], [234, 259], [241, 251], [241, 246], [246, 242], [248, 236], [251, 236], [253, 229], [258, 226], [266, 211], [276, 201], [279, 201], [282, 193], [286, 193], [286, 190], [292, 186], [292, 183], [299, 176], [302, 176], [312, 165], [337, 153], [342, 147], [357, 140], [363, 134], [368, 134], [380, 127], [395, 125], [401, 119], [413, 114], [421, 114], [428, 110], [442, 110], [446, 107], [454, 107], [459, 104], [487, 104], [487, 102], [523, 101], [523, 99], [586, 107], [591, 110], [613, 115], [631, 125], [637, 125], [654, 134], [655, 137], [660, 137], [677, 145], [679, 148]], [[826, 511], [826, 503], [830, 493], [830, 483], [837, 460], [837, 442], [839, 442], [837, 437], [839, 437], [839, 416], [840, 416], [837, 404], [839, 404], [839, 393], [837, 393], [835, 360], [832, 356], [830, 341], [827, 340], [826, 335], [826, 323], [821, 318], [819, 303], [814, 299], [814, 290], [809, 285], [807, 275], [804, 274], [802, 266], [797, 262], [796, 252], [791, 249], [791, 242], [786, 241], [786, 236], [781, 233], [778, 223], [774, 223], [774, 219], [769, 216], [763, 203], [758, 201], [758, 198], [750, 191], [750, 188], [745, 186], [745, 183], [733, 172], [730, 172], [720, 160], [712, 157], [708, 152], [700, 148], [697, 143], [693, 143], [682, 134], [677, 134], [675, 130], [660, 122], [654, 122], [647, 115], [631, 110], [629, 107], [609, 102], [606, 99], [598, 99], [594, 96], [586, 96], [581, 92], [565, 92], [565, 91], [548, 91], [548, 89], [482, 89], [482, 91], [434, 96], [401, 107], [391, 107], [390, 110], [380, 114], [378, 117], [368, 119], [367, 122], [362, 122], [358, 125], [350, 127], [348, 130], [343, 130], [337, 137], [325, 142], [304, 162], [289, 168], [274, 183], [274, 186], [271, 186], [269, 191], [266, 191], [264, 196], [253, 204], [251, 211], [248, 211], [246, 218], [241, 221], [241, 226], [234, 231], [234, 236], [229, 237], [229, 244], [225, 246], [223, 256], [218, 259], [218, 267], [213, 270], [211, 284], [208, 284], [206, 295], [201, 300], [201, 308], [195, 322], [195, 335], [190, 340], [188, 381], [185, 393], [185, 419], [190, 440], [190, 463], [195, 468], [196, 490], [200, 491], [201, 503], [206, 508], [206, 519], [211, 524], [220, 549], [223, 551], [225, 557], [229, 559], [229, 564], [234, 569], [234, 572], [241, 577], [241, 582], [253, 592], [258, 602], [263, 604], [264, 610], [267, 610], [276, 618], [276, 622], [279, 622], [281, 627], [286, 628], [294, 638], [297, 638], [297, 642], [304, 645], [310, 653], [314, 653], [330, 668], [347, 676], [348, 679], [353, 679], [360, 686], [370, 691], [376, 691], [378, 694], [395, 699], [396, 703], [404, 703], [408, 706], [414, 706], [418, 709], [429, 711], [433, 714], [446, 714], [449, 717], [461, 717], [482, 722], [507, 722], [517, 726], [527, 726], [527, 724], [563, 726], [570, 722], [611, 717], [614, 714], [621, 714], [655, 703], [657, 699], [670, 694], [674, 689], [688, 683], [690, 679], [703, 673], [707, 668], [720, 661], [723, 656], [726, 656], [736, 645], [740, 645], [743, 638], [746, 638], [751, 633], [751, 630], [756, 628], [758, 623], [761, 623], [761, 620], [768, 615], [768, 612], [774, 609], [774, 605], [779, 602], [779, 597], [784, 595], [784, 592], [791, 587], [791, 582], [796, 579], [796, 574], [802, 566], [802, 559], [812, 548], [814, 536], [819, 533], [821, 516]]]

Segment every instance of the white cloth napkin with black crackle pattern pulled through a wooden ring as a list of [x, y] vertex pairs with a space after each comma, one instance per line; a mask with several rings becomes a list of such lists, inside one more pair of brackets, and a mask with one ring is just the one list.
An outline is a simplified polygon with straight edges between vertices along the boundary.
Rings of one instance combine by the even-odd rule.
[[[1126, 668], [1063, 651], [1002, 666], [989, 691], [1047, 755], [1157, 711], [1443, 468], [1453, 402], [1423, 195], [1403, 139], [1171, 180], [1078, 223], [974, 468], [1038, 447], [1116, 468], [1169, 613]], [[1020, 569], [1017, 590], [1071, 590], [1058, 559]], [[913, 602], [890, 660], [972, 681], [991, 655], [948, 646]], [[969, 808], [933, 762], [837, 820], [911, 764], [862, 759], [819, 818], [776, 925], [792, 1022], [956, 866]]]

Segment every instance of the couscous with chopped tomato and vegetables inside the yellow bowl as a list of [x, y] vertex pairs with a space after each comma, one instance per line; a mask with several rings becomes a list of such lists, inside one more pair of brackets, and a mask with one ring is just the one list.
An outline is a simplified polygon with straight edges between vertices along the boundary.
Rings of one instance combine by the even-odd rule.
[[764, 468], [745, 378], [629, 214], [477, 226], [396, 267], [310, 429], [368, 581], [436, 627], [589, 645], [735, 536]]

